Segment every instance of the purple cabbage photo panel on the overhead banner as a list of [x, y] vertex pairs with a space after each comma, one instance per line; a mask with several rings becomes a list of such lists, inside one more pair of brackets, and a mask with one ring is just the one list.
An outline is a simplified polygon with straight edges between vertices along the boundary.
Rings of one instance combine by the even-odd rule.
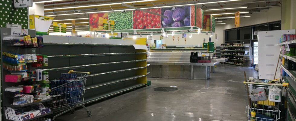
[[168, 18], [161, 18], [162, 28], [190, 26], [190, 7], [162, 8], [161, 14]]

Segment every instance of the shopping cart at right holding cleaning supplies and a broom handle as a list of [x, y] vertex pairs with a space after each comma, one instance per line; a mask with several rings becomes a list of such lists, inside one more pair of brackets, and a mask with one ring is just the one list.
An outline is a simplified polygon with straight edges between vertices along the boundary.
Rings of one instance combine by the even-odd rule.
[[[286, 103], [287, 103], [287, 87], [288, 83], [275, 84], [275, 83], [254, 83], [243, 82], [246, 87], [248, 106], [246, 106], [246, 114], [248, 121], [284, 121], [286, 117]], [[266, 100], [252, 101], [251, 93], [255, 89], [263, 89], [266, 96], [269, 95], [269, 86], [277, 86], [281, 90], [281, 102]], [[251, 116], [251, 112], [255, 111], [256, 116]]]

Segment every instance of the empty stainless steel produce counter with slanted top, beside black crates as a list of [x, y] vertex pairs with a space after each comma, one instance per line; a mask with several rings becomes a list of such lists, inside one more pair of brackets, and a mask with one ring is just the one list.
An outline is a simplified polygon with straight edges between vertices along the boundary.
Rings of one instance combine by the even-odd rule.
[[191, 52], [148, 52], [147, 77], [210, 79], [211, 69], [214, 71], [218, 62], [190, 63]]

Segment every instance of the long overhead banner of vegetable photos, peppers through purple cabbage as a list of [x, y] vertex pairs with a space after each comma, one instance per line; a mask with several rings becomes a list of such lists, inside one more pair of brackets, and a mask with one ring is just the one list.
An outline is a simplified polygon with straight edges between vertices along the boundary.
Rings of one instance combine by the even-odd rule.
[[[163, 18], [159, 15], [139, 10], [94, 13], [89, 14], [89, 31], [175, 28], [190, 26], [203, 28], [204, 25], [204, 11], [196, 5], [172, 8], [153, 8], [146, 9], [146, 11], [164, 15], [168, 18]], [[107, 20], [112, 20], [114, 22], [111, 22], [111, 25], [108, 26], [106, 24]], [[211, 27], [211, 25], [209, 25], [209, 27]], [[209, 28], [209, 30], [210, 29], [211, 28]]]

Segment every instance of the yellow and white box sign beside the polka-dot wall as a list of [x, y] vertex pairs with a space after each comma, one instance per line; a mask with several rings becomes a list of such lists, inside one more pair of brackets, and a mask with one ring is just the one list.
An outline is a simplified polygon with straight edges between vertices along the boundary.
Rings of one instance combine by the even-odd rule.
[[29, 15], [29, 29], [35, 29], [37, 35], [47, 34], [53, 19], [54, 17]]

